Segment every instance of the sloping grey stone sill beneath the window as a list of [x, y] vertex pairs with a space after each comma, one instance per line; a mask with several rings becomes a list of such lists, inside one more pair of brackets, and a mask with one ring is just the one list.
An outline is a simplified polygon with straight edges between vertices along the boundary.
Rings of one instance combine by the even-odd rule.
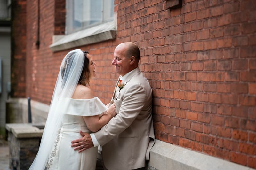
[[55, 52], [115, 38], [116, 24], [111, 21], [69, 35], [53, 35], [49, 48]]

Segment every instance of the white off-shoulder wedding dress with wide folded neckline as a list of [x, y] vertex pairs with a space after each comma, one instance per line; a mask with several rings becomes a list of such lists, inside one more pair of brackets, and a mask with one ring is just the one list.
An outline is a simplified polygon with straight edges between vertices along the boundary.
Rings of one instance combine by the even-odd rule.
[[107, 107], [98, 97], [92, 99], [60, 99], [66, 111], [62, 127], [56, 136], [56, 142], [48, 161], [50, 170], [95, 170], [98, 147], [82, 152], [71, 147], [71, 141], [81, 138], [79, 131], [91, 133], [82, 116], [99, 115]]

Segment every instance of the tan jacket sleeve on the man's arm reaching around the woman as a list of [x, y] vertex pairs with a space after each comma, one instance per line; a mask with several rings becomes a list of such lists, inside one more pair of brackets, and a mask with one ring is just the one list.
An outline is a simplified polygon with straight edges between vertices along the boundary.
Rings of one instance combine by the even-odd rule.
[[145, 101], [145, 89], [140, 84], [133, 85], [127, 89], [119, 114], [112, 118], [98, 132], [94, 133], [100, 145], [104, 145], [128, 128], [140, 114]]

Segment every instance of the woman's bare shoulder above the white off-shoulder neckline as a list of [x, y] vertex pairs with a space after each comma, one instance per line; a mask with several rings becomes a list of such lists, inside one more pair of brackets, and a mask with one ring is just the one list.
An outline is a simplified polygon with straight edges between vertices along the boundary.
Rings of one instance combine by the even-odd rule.
[[74, 99], [90, 99], [93, 98], [92, 90], [86, 86], [78, 84], [72, 96]]

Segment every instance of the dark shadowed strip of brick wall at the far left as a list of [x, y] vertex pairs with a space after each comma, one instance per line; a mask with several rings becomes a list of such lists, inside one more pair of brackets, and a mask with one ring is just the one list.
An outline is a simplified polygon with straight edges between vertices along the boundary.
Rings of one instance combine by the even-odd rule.
[[26, 96], [26, 0], [12, 1], [11, 96]]

